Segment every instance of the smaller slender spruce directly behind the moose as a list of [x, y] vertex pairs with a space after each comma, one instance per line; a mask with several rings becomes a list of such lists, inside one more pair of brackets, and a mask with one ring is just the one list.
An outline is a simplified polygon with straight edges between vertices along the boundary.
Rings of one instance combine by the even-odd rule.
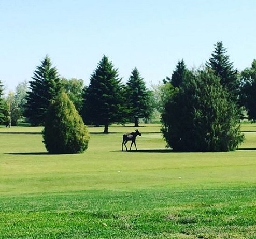
[[147, 118], [153, 112], [151, 92], [146, 88], [146, 84], [136, 67], [126, 83], [126, 102], [129, 118], [134, 121], [135, 127], [139, 126], [140, 118]]

